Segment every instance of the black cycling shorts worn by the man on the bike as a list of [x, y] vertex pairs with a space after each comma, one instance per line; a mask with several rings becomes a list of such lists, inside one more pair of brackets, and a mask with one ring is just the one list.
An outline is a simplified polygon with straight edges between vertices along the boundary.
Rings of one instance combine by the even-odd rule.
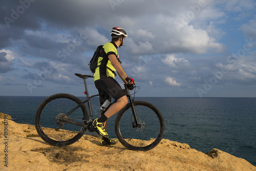
[[112, 77], [104, 77], [94, 81], [95, 87], [98, 89], [100, 95], [100, 105], [102, 105], [105, 100], [111, 102], [111, 98], [118, 100], [119, 98], [125, 96], [124, 91], [120, 87], [120, 84]]

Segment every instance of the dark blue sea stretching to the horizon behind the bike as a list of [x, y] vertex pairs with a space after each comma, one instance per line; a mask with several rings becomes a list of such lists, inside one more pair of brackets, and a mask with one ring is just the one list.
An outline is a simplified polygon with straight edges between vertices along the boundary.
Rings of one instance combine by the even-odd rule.
[[[46, 97], [0, 96], [0, 112], [17, 123], [34, 125], [38, 105]], [[79, 97], [85, 100], [86, 97]], [[256, 165], [256, 98], [135, 97], [154, 104], [165, 120], [164, 138], [187, 143], [203, 153], [218, 148]], [[99, 116], [98, 98], [91, 99]], [[108, 133], [116, 138], [115, 116]]]

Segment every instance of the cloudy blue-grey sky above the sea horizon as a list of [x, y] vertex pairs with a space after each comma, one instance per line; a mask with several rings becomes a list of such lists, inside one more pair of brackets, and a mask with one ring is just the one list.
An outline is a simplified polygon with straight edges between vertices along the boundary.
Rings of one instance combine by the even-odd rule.
[[[0, 2], [0, 96], [83, 96], [82, 79], [112, 27], [140, 97], [256, 97], [252, 0]], [[122, 85], [119, 77], [117, 81]], [[97, 94], [92, 78], [89, 95]], [[138, 89], [137, 89], [138, 90]]]

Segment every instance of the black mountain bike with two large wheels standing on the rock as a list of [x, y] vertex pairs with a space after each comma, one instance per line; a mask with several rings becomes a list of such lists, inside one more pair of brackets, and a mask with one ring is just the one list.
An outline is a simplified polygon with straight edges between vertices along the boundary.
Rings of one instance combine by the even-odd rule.
[[[35, 115], [35, 127], [38, 135], [47, 143], [66, 146], [78, 141], [88, 130], [92, 129], [93, 113], [90, 99], [100, 94], [89, 96], [87, 78], [91, 75], [75, 74], [83, 79], [87, 99], [66, 93], [47, 97], [38, 106]], [[159, 144], [164, 135], [164, 119], [160, 111], [151, 103], [134, 101], [124, 84], [130, 103], [121, 109], [115, 119], [115, 133], [120, 143], [128, 149], [148, 151]], [[134, 96], [136, 86], [134, 85]], [[85, 103], [88, 103], [88, 110]]]

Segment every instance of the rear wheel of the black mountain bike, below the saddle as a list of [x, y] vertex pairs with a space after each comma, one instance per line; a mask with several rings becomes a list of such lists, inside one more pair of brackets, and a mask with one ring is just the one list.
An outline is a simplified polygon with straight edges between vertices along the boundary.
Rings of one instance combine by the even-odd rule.
[[[78, 109], [65, 116], [79, 104]], [[88, 120], [88, 112], [82, 101], [71, 94], [54, 94], [42, 101], [36, 111], [35, 127], [38, 135], [51, 145], [70, 145], [86, 132], [86, 127], [60, 121], [61, 117], [83, 123]]]

